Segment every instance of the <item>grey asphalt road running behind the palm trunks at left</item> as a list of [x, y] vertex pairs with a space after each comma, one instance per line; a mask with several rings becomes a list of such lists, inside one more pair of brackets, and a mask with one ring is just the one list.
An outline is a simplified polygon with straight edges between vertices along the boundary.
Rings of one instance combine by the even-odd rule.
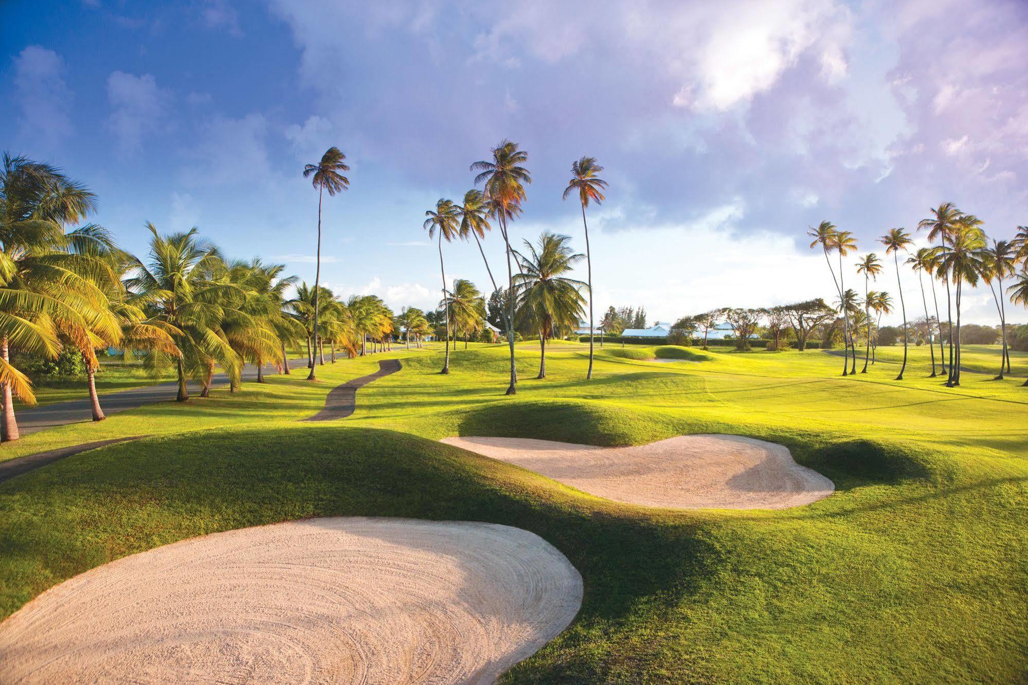
[[[306, 357], [290, 359], [289, 368], [294, 373], [306, 373]], [[265, 375], [270, 375], [276, 372], [277, 371], [272, 366], [265, 366], [264, 368]], [[256, 366], [247, 365], [247, 367], [243, 369], [244, 381], [253, 381], [256, 377]], [[221, 386], [226, 383], [228, 383], [227, 374], [215, 373], [211, 385]], [[200, 386], [198, 384], [190, 382], [187, 387], [189, 388], [190, 395], [199, 394]], [[111, 393], [109, 395], [101, 395], [100, 406], [103, 407], [105, 414], [110, 416], [112, 413], [117, 413], [118, 411], [124, 411], [125, 409], [135, 409], [143, 406], [144, 404], [174, 401], [178, 392], [179, 384], [177, 382], [173, 381], [171, 383], [160, 383], [154, 386], [146, 386], [145, 388], [135, 388], [133, 390], [122, 390], [121, 392]], [[67, 402], [54, 402], [53, 404], [46, 404], [43, 406], [26, 407], [15, 411], [14, 416], [17, 419], [19, 432], [22, 435], [28, 435], [29, 433], [35, 433], [36, 431], [41, 431], [45, 428], [53, 428], [54, 426], [64, 426], [66, 424], [75, 424], [80, 421], [91, 421], [93, 404], [89, 402], [89, 396], [86, 393], [84, 383], [82, 384], [82, 399], [69, 400]]]

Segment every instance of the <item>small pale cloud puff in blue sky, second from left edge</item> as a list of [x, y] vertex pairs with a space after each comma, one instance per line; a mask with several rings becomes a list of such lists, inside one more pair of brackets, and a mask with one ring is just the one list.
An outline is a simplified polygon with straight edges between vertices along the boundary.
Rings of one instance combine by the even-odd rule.
[[107, 78], [107, 99], [112, 110], [107, 125], [122, 153], [138, 151], [146, 136], [164, 128], [172, 103], [171, 92], [158, 87], [152, 75], [123, 71]]

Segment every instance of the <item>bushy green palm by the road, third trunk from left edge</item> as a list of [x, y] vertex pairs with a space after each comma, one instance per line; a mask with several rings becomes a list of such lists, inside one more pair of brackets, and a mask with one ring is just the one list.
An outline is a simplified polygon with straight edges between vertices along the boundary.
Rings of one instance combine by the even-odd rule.
[[[187, 375], [206, 376], [205, 390], [215, 363], [221, 365], [233, 383], [238, 382], [242, 365], [222, 330], [229, 316], [246, 317], [237, 308], [245, 295], [235, 284], [219, 277], [225, 263], [211, 243], [196, 237], [196, 228], [185, 233], [160, 236], [152, 223], [147, 261], [134, 257], [135, 276], [125, 286], [147, 315], [168, 330], [181, 354], [175, 359], [179, 378], [177, 400], [189, 399]], [[168, 355], [155, 351], [145, 357], [149, 366], [160, 366]]]

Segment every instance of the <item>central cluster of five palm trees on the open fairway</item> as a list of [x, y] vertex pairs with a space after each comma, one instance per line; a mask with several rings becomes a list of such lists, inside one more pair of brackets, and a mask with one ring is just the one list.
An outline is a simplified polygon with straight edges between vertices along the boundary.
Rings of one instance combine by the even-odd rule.
[[[567, 245], [570, 238], [544, 233], [538, 246], [524, 242], [528, 255], [514, 249], [510, 222], [521, 215], [526, 199], [525, 186], [531, 183], [531, 174], [524, 167], [528, 154], [521, 150], [517, 143], [502, 141], [491, 150], [487, 159], [471, 165], [471, 171], [477, 172], [474, 184], [482, 185], [483, 189], [468, 190], [462, 204], [451, 200], [440, 199], [434, 209], [425, 215], [424, 227], [429, 231], [429, 238], [436, 238], [439, 250], [439, 268], [442, 276], [442, 309], [445, 314], [446, 351], [443, 359], [442, 373], [449, 372], [449, 338], [450, 312], [448, 301], [455, 296], [446, 287], [446, 268], [443, 259], [443, 241], [451, 243], [454, 239], [468, 240], [474, 238], [478, 245], [482, 261], [485, 263], [493, 291], [506, 292], [503, 310], [503, 322], [507, 342], [510, 348], [510, 385], [507, 394], [517, 392], [517, 368], [514, 364], [515, 330], [520, 320], [525, 317], [534, 322], [534, 328], [540, 335], [541, 360], [540, 374], [546, 377], [546, 338], [560, 324], [565, 323], [570, 313], [574, 313], [575, 324], [578, 317], [584, 313], [586, 299], [580, 289], [588, 291], [589, 308], [589, 367], [587, 378], [592, 377], [593, 361], [593, 313], [592, 313], [592, 264], [589, 255], [589, 226], [585, 210], [590, 203], [600, 204], [605, 200], [603, 190], [607, 182], [599, 178], [603, 168], [596, 164], [595, 157], [584, 156], [572, 165], [572, 179], [564, 189], [564, 199], [572, 193], [578, 193], [582, 207], [582, 224], [585, 230], [586, 254], [584, 255], [588, 268], [588, 281], [575, 281], [564, 276], [583, 255], [575, 254]], [[502, 288], [497, 282], [489, 266], [489, 261], [482, 249], [485, 232], [495, 224], [504, 240], [507, 257], [507, 287]], [[537, 249], [538, 248], [538, 249]], [[517, 272], [515, 272], [515, 267]], [[559, 299], [558, 299], [559, 298]], [[455, 312], [455, 310], [454, 310]]]

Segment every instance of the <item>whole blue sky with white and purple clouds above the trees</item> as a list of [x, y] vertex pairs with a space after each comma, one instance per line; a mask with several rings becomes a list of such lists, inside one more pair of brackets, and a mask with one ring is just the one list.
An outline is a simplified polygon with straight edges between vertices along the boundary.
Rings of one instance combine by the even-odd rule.
[[[144, 221], [197, 225], [313, 281], [301, 171], [336, 145], [352, 186], [326, 205], [324, 280], [397, 309], [438, 301], [424, 212], [460, 199], [503, 138], [535, 178], [517, 239], [551, 228], [583, 249], [560, 195], [573, 159], [607, 167], [609, 200], [590, 210], [596, 307], [651, 320], [830, 298], [803, 240], [821, 219], [879, 253], [877, 237], [945, 201], [997, 238], [1028, 223], [1026, 3], [588, 8], [8, 1], [3, 147], [96, 190], [95, 219], [130, 249], [145, 250]], [[499, 263], [499, 236], [486, 246]], [[448, 275], [485, 289], [473, 245], [445, 253]], [[877, 287], [894, 297], [894, 283], [887, 269]], [[996, 319], [990, 298], [968, 298], [971, 320]]]

